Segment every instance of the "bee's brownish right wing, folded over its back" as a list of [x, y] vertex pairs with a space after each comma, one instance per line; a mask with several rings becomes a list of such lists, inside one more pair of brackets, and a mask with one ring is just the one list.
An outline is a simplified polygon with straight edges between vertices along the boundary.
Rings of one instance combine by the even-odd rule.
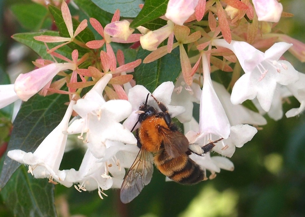
[[165, 151], [170, 157], [179, 157], [188, 150], [188, 139], [179, 131], [160, 127]]

